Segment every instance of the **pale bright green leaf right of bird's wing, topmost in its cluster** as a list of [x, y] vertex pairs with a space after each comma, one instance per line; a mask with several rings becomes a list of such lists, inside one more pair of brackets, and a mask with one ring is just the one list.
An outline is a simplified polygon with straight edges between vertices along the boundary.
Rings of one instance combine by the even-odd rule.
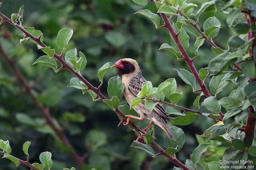
[[[159, 84], [157, 92], [161, 97], [164, 95], [166, 98], [169, 98], [169, 96], [175, 93], [176, 90], [177, 90], [177, 82], [175, 78], [169, 78], [164, 82], [162, 82], [161, 84]], [[163, 97], [161, 99], [164, 100]]]

